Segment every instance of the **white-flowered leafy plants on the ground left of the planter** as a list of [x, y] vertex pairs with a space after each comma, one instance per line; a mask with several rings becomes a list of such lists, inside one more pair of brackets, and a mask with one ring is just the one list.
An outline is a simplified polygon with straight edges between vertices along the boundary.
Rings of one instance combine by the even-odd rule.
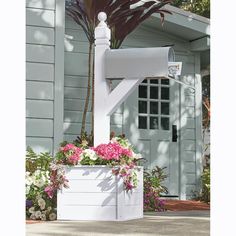
[[31, 148], [26, 155], [26, 217], [32, 220], [55, 220], [56, 198], [49, 198], [44, 191], [50, 182], [49, 153], [37, 155]]

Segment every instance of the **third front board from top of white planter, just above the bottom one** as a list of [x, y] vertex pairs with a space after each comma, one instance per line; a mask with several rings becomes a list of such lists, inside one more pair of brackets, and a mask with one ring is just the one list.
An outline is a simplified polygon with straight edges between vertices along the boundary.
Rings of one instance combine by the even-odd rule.
[[60, 201], [69, 205], [115, 206], [116, 193], [73, 193], [62, 194]]

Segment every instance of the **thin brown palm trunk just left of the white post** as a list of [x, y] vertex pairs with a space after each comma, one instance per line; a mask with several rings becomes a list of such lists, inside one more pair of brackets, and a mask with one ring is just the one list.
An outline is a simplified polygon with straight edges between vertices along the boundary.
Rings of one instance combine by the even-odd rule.
[[86, 99], [85, 99], [85, 104], [84, 104], [82, 125], [81, 125], [81, 131], [80, 131], [81, 136], [83, 136], [83, 134], [85, 133], [86, 116], [87, 116], [87, 112], [88, 112], [89, 98], [90, 98], [90, 93], [91, 93], [91, 79], [93, 76], [93, 48], [94, 48], [94, 44], [89, 43], [88, 84], [87, 84], [87, 94], [86, 94]]

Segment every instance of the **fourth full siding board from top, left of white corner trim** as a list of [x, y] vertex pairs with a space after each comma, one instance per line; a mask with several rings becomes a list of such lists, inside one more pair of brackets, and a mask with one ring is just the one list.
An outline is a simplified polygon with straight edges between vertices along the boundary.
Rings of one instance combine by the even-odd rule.
[[45, 63], [26, 63], [26, 80], [54, 81], [54, 65]]

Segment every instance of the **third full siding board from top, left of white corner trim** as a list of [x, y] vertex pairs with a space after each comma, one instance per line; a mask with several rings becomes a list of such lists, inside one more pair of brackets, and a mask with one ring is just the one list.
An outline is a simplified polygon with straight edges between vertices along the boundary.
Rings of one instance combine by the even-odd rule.
[[54, 63], [54, 47], [26, 44], [26, 61]]

